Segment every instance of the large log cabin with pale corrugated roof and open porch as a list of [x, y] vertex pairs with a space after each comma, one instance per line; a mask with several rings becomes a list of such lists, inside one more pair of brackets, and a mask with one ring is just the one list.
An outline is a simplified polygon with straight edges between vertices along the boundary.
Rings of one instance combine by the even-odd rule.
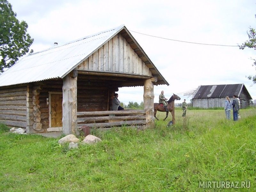
[[[168, 84], [122, 25], [29, 54], [0, 75], [0, 122], [57, 127], [154, 125], [154, 85]], [[110, 111], [119, 87], [144, 86], [145, 110]]]

